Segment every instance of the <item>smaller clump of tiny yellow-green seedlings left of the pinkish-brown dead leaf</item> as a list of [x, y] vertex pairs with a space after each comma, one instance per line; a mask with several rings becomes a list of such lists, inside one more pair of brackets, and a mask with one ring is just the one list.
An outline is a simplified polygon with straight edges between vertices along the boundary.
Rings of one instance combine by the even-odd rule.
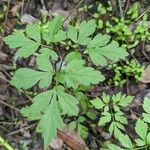
[[126, 65], [118, 66], [117, 64], [109, 65], [114, 70], [115, 76], [109, 82], [116, 86], [123, 86], [127, 82], [127, 78], [134, 78], [136, 82], [140, 80], [142, 73], [144, 72], [144, 66], [141, 66], [137, 61], [132, 59], [126, 61]]

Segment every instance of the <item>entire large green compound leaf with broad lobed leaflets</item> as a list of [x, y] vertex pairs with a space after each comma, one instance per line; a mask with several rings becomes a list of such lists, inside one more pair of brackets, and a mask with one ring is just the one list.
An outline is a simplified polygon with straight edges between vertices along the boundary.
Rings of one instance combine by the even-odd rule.
[[[93, 38], [95, 20], [83, 21], [79, 28], [69, 26], [67, 31], [63, 30], [63, 19], [59, 16], [47, 24], [44, 31], [36, 24], [29, 24], [24, 32], [17, 31], [4, 38], [10, 48], [18, 49], [18, 57], [27, 58], [36, 52], [35, 67], [16, 70], [11, 84], [18, 89], [27, 90], [35, 85], [44, 89], [21, 113], [31, 121], [39, 120], [37, 131], [42, 133], [45, 149], [56, 137], [57, 129], [63, 128], [62, 115], [78, 115], [78, 99], [65, 89], [90, 86], [105, 79], [99, 70], [88, 67], [82, 56], [89, 55], [95, 65], [106, 65], [108, 60], [118, 61], [128, 55], [109, 35], [98, 34]], [[70, 49], [71, 52], [66, 52], [66, 57], [58, 63], [62, 58], [61, 50], [58, 54], [55, 47], [67, 40], [78, 44], [79, 49]]]

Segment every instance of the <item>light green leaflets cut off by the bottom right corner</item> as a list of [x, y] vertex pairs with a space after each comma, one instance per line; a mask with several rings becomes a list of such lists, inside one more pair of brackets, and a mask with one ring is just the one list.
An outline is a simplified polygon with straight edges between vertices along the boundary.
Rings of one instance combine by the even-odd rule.
[[119, 141], [121, 146], [108, 144], [109, 150], [148, 150], [150, 148], [150, 99], [147, 97], [144, 99], [143, 109], [146, 113], [143, 113], [142, 117], [136, 121], [134, 127], [137, 138], [132, 140], [127, 134], [120, 132], [120, 130], [116, 130], [115, 138]]

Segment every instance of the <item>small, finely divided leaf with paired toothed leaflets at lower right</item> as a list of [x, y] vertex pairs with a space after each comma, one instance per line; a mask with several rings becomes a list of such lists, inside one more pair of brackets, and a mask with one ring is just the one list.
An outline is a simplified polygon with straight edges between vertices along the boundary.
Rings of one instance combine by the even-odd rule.
[[111, 135], [116, 135], [118, 130], [125, 131], [124, 125], [128, 124], [128, 121], [123, 111], [121, 111], [121, 107], [128, 106], [132, 100], [132, 96], [121, 95], [121, 93], [112, 97], [103, 93], [101, 98], [97, 97], [92, 100], [92, 105], [102, 112], [98, 125], [101, 127], [109, 125]]

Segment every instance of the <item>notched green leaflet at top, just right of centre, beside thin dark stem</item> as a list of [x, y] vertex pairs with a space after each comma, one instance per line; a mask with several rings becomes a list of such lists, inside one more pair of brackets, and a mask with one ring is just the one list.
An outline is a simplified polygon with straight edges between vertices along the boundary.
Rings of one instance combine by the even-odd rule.
[[89, 36], [95, 32], [95, 29], [95, 20], [89, 20], [88, 22], [82, 21], [79, 29], [69, 26], [67, 37], [70, 38], [74, 43], [87, 45], [91, 41]]

